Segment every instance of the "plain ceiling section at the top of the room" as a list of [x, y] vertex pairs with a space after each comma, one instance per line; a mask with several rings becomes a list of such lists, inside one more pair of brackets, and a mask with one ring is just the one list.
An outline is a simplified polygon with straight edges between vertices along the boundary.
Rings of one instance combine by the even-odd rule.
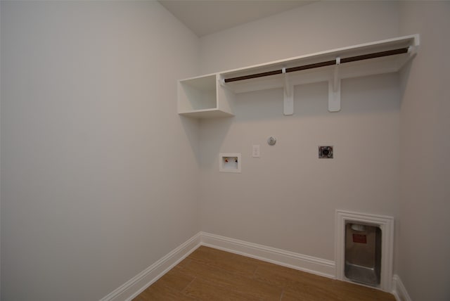
[[158, 0], [198, 37], [310, 4], [306, 0]]

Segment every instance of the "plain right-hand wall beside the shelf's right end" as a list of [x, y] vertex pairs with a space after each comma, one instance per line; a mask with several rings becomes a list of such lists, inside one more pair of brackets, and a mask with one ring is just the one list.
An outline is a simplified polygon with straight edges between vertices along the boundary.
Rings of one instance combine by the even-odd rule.
[[450, 3], [405, 1], [401, 34], [420, 33], [403, 78], [399, 271], [411, 300], [450, 300]]

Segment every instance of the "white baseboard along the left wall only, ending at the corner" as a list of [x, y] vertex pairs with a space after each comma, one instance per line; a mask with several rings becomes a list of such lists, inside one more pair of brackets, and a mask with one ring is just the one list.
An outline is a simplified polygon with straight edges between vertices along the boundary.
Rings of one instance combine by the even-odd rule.
[[169, 252], [160, 260], [150, 265], [147, 269], [141, 271], [119, 288], [113, 290], [100, 301], [122, 301], [132, 300], [134, 297], [143, 292], [148, 286], [161, 278], [170, 269], [179, 264], [181, 260], [188, 257], [191, 252], [200, 246], [200, 233], [195, 234], [188, 241], [179, 245], [178, 248]]

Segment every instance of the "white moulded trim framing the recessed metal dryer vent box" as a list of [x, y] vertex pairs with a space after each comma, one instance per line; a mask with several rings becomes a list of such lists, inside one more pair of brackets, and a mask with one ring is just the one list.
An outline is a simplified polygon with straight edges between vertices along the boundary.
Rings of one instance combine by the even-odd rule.
[[381, 229], [381, 290], [392, 291], [392, 260], [394, 246], [394, 218], [384, 215], [366, 214], [336, 210], [335, 213], [335, 264], [336, 278], [349, 281], [344, 275], [345, 264], [345, 223], [363, 222], [379, 226]]

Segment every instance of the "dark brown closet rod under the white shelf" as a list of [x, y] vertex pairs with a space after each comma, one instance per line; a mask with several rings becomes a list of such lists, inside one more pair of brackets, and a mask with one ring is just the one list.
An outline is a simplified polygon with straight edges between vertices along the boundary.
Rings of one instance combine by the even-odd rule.
[[[369, 58], [381, 58], [383, 56], [394, 56], [396, 54], [407, 53], [408, 51], [409, 51], [409, 47], [388, 50], [388, 51], [375, 52], [375, 53], [368, 53], [368, 54], [364, 54], [362, 56], [351, 56], [349, 58], [341, 58], [340, 63], [342, 64], [342, 63], [355, 62], [356, 60], [367, 60]], [[314, 63], [314, 64], [302, 65], [302, 66], [297, 66], [297, 67], [292, 67], [292, 68], [285, 68], [285, 72], [286, 73], [295, 72], [295, 71], [325, 67], [325, 66], [330, 66], [330, 65], [336, 65], [336, 60], [326, 60], [325, 62], [321, 62], [321, 63]], [[239, 80], [252, 79], [252, 78], [257, 78], [257, 77], [265, 77], [265, 76], [269, 76], [269, 75], [280, 75], [282, 73], [283, 73], [283, 70], [280, 69], [280, 70], [274, 70], [274, 71], [269, 71], [269, 72], [256, 73], [253, 75], [244, 75], [244, 76], [240, 76], [240, 77], [226, 78], [226, 79], [224, 79], [224, 82], [237, 82]]]

